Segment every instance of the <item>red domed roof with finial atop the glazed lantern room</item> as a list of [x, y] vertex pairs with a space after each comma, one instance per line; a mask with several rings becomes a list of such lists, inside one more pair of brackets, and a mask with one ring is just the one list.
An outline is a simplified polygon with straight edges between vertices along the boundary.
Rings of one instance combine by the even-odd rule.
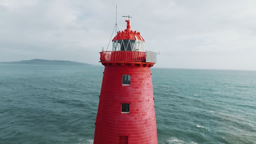
[[131, 29], [131, 23], [130, 20], [125, 20], [127, 22], [127, 29], [124, 31], [117, 32], [117, 35], [113, 38], [114, 40], [139, 40], [144, 41], [144, 39], [141, 37], [140, 32], [133, 31]]

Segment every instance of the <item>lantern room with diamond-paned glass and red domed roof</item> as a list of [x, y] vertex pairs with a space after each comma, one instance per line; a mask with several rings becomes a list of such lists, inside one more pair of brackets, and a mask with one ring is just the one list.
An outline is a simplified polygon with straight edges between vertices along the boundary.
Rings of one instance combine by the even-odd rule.
[[112, 40], [113, 51], [140, 51], [144, 52], [144, 39], [140, 32], [131, 29], [131, 21], [127, 22], [127, 28], [124, 31], [118, 31]]

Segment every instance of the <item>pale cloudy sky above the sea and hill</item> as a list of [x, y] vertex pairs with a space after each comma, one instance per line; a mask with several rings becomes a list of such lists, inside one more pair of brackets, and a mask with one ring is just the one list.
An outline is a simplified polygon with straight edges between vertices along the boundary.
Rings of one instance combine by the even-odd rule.
[[100, 65], [116, 5], [119, 30], [132, 16], [144, 48], [160, 51], [154, 67], [256, 70], [255, 0], [0, 0], [0, 61]]

